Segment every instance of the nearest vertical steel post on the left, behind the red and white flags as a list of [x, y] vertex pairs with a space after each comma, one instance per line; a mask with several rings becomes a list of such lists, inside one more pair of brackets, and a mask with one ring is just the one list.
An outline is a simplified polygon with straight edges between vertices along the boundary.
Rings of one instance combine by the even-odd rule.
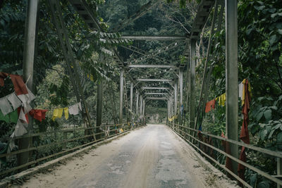
[[[23, 54], [23, 80], [24, 82], [28, 80], [27, 87], [32, 91], [33, 87], [33, 64], [35, 62], [35, 41], [37, 37], [37, 11], [38, 11], [38, 0], [27, 1], [27, 13], [25, 18], [25, 46]], [[30, 123], [27, 125], [27, 130], [30, 132], [32, 130], [32, 118], [30, 118]], [[18, 149], [27, 149], [32, 146], [31, 138], [19, 139]], [[30, 151], [19, 153], [18, 165], [23, 165], [28, 163], [30, 158]], [[26, 168], [23, 168], [26, 169]]]

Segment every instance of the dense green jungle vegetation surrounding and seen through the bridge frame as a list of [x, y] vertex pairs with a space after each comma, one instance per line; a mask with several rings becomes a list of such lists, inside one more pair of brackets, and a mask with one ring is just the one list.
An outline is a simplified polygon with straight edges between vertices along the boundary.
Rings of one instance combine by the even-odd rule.
[[[106, 32], [113, 32], [113, 28], [140, 10], [147, 0], [88, 0], [94, 14], [99, 19]], [[132, 23], [128, 23], [116, 33], [119, 35], [189, 35], [195, 17], [198, 1], [159, 1], [145, 15]], [[0, 72], [22, 75], [23, 74], [23, 47], [25, 36], [25, 14], [27, 1], [0, 1]], [[117, 123], [119, 109], [119, 74], [120, 69], [109, 54], [102, 49], [114, 47], [118, 50], [123, 61], [134, 63], [141, 61], [138, 53], [126, 48], [135, 46], [144, 54], [164, 51], [166, 46], [175, 42], [166, 41], [120, 41], [117, 44], [101, 42], [99, 36], [90, 31], [84, 21], [79, 17], [71, 4], [61, 1], [63, 18], [69, 30], [69, 38], [75, 59], [79, 62], [79, 77], [83, 94], [90, 109], [90, 116], [95, 123], [97, 106], [97, 84], [104, 82], [102, 123]], [[197, 66], [196, 66], [196, 104], [200, 98], [200, 87], [204, 71], [204, 61], [207, 54], [210, 27], [210, 16], [197, 41]], [[215, 57], [209, 64], [214, 64], [209, 100], [225, 92], [225, 27], [224, 16], [221, 30], [216, 30], [212, 41], [217, 43], [212, 46], [212, 55]], [[218, 26], [218, 25], [216, 25]], [[274, 151], [282, 151], [282, 4], [280, 0], [239, 0], [238, 1], [238, 77], [239, 82], [247, 78], [252, 87], [252, 101], [250, 104], [251, 144]], [[39, 4], [39, 25], [37, 39], [37, 55], [34, 69], [34, 108], [48, 109], [47, 118], [42, 123], [35, 121], [35, 132], [62, 129], [66, 126], [82, 126], [82, 115], [73, 116], [68, 120], [63, 118], [51, 120], [54, 108], [63, 108], [75, 102], [66, 63], [59, 44], [56, 29], [51, 20], [51, 13], [47, 1]], [[176, 44], [175, 44], [176, 45]], [[132, 48], [132, 47], [130, 47]], [[177, 47], [164, 51], [158, 59], [147, 58], [144, 64], [174, 64], [188, 63], [183, 56], [189, 51], [185, 42], [178, 42]], [[104, 61], [99, 54], [104, 53]], [[87, 76], [88, 75], [88, 76]], [[90, 76], [91, 75], [91, 76]], [[149, 69], [136, 69], [129, 75], [135, 78], [165, 78], [175, 79], [173, 71]], [[91, 77], [91, 79], [90, 79]], [[189, 111], [188, 75], [184, 75], [185, 120], [188, 124]], [[128, 78], [125, 77], [125, 80]], [[238, 83], [239, 84], [239, 83]], [[142, 86], [156, 86], [157, 84], [139, 84]], [[166, 87], [166, 83], [160, 86]], [[130, 94], [130, 84], [127, 82], [126, 94]], [[4, 87], [0, 87], [0, 98], [13, 92], [13, 84], [6, 80]], [[128, 101], [125, 101], [128, 103]], [[133, 102], [134, 103], [134, 102]], [[239, 104], [240, 106], [240, 104]], [[152, 101], [147, 104], [146, 113], [159, 111], [160, 119], [166, 119], [166, 102]], [[159, 109], [159, 110], [156, 110]], [[242, 109], [239, 107], [238, 117]], [[128, 118], [128, 111], [124, 108], [124, 121]], [[225, 107], [216, 106], [216, 109], [204, 116], [202, 130], [212, 134], [221, 135], [225, 132], [226, 115]], [[127, 117], [126, 117], [127, 116]], [[8, 142], [15, 123], [0, 121], [0, 142]], [[239, 118], [239, 129], [242, 119]], [[240, 131], [239, 131], [240, 132]], [[52, 138], [50, 138], [52, 139]], [[54, 139], [54, 138], [53, 138]], [[39, 142], [51, 142], [48, 139]], [[75, 143], [73, 143], [75, 144]], [[38, 155], [47, 155], [59, 151], [50, 148], [49, 151], [40, 151]], [[217, 156], [224, 163], [223, 156]], [[268, 173], [276, 173], [276, 158], [267, 157], [255, 152], [247, 152], [247, 163], [256, 166]], [[1, 165], [1, 170], [15, 165], [10, 161]], [[268, 180], [253, 173], [245, 172], [247, 182], [252, 186], [266, 184], [273, 186]]]

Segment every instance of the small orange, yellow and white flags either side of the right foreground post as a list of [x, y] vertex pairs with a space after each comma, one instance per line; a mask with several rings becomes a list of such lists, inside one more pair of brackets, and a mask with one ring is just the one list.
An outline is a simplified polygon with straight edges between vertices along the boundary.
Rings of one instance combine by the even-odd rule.
[[[242, 106], [245, 104], [245, 83], [246, 79], [244, 79], [240, 84], [238, 85], [238, 92], [239, 92], [239, 98], [242, 100]], [[250, 82], [247, 82], [247, 89], [251, 94], [251, 85]], [[252, 94], [251, 94], [252, 95]], [[218, 102], [219, 106], [225, 106], [226, 102], [226, 93], [221, 94], [221, 96], [217, 96], [215, 99], [212, 99], [212, 101], [208, 101], [205, 106], [205, 113], [209, 113], [212, 109], [216, 106], [216, 101]]]

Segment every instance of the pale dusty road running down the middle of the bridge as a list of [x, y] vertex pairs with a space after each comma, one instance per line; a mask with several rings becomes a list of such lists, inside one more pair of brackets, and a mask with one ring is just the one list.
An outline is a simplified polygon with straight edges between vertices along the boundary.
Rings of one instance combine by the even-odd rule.
[[[218, 180], [209, 180], [209, 179]], [[23, 187], [234, 187], [195, 160], [191, 148], [165, 125], [140, 130], [92, 149]]]

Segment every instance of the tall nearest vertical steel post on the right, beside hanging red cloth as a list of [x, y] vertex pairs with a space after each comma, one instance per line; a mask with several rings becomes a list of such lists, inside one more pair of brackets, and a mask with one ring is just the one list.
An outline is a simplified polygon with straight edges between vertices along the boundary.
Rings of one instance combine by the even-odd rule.
[[[226, 0], [226, 136], [238, 141], [238, 21], [237, 0]], [[231, 144], [231, 155], [238, 158], [238, 145]], [[233, 173], [238, 163], [232, 161]]]

